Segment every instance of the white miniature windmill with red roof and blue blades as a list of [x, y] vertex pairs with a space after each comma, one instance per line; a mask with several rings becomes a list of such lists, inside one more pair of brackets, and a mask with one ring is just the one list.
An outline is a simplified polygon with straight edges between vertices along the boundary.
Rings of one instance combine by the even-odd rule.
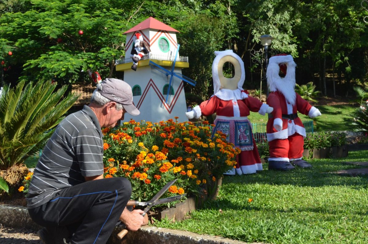
[[129, 55], [116, 62], [116, 70], [124, 71], [124, 81], [133, 90], [133, 103], [141, 112], [138, 116], [126, 116], [124, 121], [132, 118], [138, 122], [160, 122], [175, 116], [179, 117], [179, 122], [187, 121], [184, 82], [194, 86], [195, 81], [181, 74], [181, 69], [189, 67], [189, 62], [188, 57], [179, 55], [176, 32], [176, 29], [149, 17], [124, 33], [127, 35], [125, 53], [131, 53], [134, 48], [136, 33], [151, 49], [139, 60], [137, 71], [131, 69]]

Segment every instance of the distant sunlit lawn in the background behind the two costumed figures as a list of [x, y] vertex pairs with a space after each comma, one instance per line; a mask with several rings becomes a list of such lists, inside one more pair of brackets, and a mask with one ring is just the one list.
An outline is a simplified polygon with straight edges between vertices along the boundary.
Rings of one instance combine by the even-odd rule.
[[[314, 118], [314, 131], [341, 131], [352, 130], [353, 112], [358, 107], [351, 105], [316, 105], [316, 108], [321, 111], [321, 116]], [[302, 121], [309, 120], [308, 116], [298, 113]], [[258, 113], [251, 112], [248, 116], [251, 123], [267, 123], [267, 114], [262, 116]]]

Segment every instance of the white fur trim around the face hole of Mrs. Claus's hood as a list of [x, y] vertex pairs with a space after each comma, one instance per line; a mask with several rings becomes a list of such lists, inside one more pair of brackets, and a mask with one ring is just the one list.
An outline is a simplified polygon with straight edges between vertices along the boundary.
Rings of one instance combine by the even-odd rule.
[[241, 58], [238, 55], [236, 55], [231, 49], [224, 50], [224, 51], [215, 51], [215, 55], [216, 57], [212, 62], [213, 93], [216, 94], [220, 90], [220, 87], [221, 87], [220, 79], [219, 79], [218, 65], [219, 65], [220, 59], [222, 59], [224, 56], [233, 56], [240, 63], [241, 76], [240, 76], [240, 80], [238, 81], [238, 89], [242, 90], [244, 80], [245, 80], [245, 69], [244, 69], [243, 60], [241, 60]]

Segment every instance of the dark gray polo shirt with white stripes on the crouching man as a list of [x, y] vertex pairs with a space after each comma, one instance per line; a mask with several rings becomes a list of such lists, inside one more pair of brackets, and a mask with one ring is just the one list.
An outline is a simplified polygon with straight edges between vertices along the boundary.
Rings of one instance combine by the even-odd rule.
[[42, 151], [27, 196], [36, 208], [65, 187], [80, 184], [85, 176], [103, 174], [103, 139], [96, 114], [87, 105], [57, 126]]

